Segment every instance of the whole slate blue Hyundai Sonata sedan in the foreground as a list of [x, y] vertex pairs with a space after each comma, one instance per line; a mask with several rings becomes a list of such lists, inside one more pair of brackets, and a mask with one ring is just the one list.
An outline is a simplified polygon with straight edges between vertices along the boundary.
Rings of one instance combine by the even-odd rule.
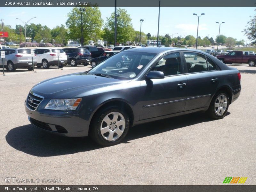
[[25, 108], [39, 128], [69, 137], [89, 135], [109, 146], [120, 143], [135, 124], [196, 111], [224, 117], [240, 94], [240, 78], [236, 68], [201, 51], [135, 48], [90, 71], [36, 84]]

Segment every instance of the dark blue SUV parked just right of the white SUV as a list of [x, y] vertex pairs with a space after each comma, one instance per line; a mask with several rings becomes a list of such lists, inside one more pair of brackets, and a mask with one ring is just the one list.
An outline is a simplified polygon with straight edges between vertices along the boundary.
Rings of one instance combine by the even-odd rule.
[[75, 67], [77, 64], [87, 66], [92, 59], [91, 52], [84, 48], [64, 48], [62, 49], [68, 57], [68, 64]]

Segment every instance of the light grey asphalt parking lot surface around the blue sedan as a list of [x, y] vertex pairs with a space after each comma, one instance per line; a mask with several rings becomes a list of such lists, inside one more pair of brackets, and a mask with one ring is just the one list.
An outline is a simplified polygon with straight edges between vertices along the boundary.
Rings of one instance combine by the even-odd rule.
[[124, 142], [101, 148], [89, 138], [66, 138], [32, 126], [24, 109], [29, 90], [55, 76], [89, 70], [0, 70], [0, 184], [5, 178], [62, 179], [57, 185], [222, 185], [226, 177], [256, 184], [256, 67], [241, 72], [242, 92], [227, 116], [202, 113], [132, 127]]

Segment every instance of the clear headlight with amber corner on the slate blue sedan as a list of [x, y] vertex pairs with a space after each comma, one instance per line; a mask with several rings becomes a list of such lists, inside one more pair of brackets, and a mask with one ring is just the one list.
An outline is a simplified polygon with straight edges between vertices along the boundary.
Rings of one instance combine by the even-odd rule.
[[78, 99], [52, 99], [50, 100], [45, 109], [60, 110], [60, 111], [73, 111], [81, 102], [82, 98]]

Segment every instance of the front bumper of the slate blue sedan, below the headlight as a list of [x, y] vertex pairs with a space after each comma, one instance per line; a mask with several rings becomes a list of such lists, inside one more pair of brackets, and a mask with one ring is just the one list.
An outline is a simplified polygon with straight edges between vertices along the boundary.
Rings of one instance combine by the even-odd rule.
[[[42, 106], [49, 100], [42, 101]], [[92, 114], [74, 114], [75, 112], [54, 111], [40, 107], [32, 111], [25, 101], [25, 111], [28, 114], [28, 120], [31, 124], [47, 132], [67, 136], [67, 137], [84, 137], [88, 136], [89, 119]], [[39, 110], [39, 111], [38, 111]], [[49, 113], [47, 113], [49, 112]], [[54, 113], [54, 114], [51, 114]], [[63, 115], [66, 114], [67, 115]]]

